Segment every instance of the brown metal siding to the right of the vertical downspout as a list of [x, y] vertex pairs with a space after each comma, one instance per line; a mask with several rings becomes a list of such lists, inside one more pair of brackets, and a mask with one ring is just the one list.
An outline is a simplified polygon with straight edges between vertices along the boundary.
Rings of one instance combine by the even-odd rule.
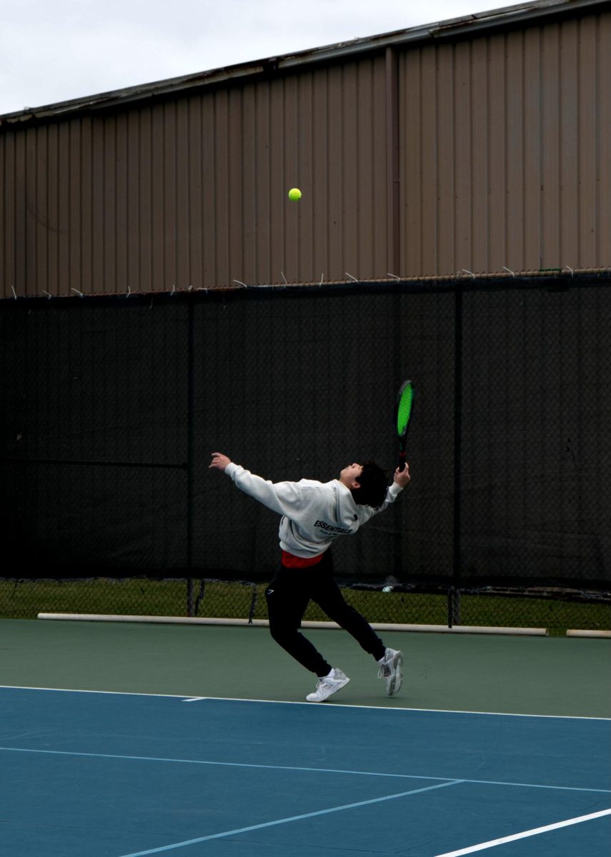
[[402, 56], [404, 276], [611, 265], [611, 15]]

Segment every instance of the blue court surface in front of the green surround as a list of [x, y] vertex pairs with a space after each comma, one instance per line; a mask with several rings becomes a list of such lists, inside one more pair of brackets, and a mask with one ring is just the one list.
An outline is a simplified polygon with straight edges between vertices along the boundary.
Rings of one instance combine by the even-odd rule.
[[608, 857], [610, 723], [0, 688], [3, 857]]

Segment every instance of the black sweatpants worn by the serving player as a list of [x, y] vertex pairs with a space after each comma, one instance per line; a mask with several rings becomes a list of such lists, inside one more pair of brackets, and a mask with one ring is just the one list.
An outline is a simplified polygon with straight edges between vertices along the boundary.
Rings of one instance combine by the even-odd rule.
[[265, 592], [268, 603], [269, 632], [295, 660], [312, 673], [329, 675], [331, 665], [299, 632], [309, 601], [316, 602], [330, 620], [352, 634], [360, 646], [376, 661], [384, 657], [384, 644], [367, 620], [344, 601], [333, 578], [330, 550], [315, 566], [286, 568], [281, 566]]

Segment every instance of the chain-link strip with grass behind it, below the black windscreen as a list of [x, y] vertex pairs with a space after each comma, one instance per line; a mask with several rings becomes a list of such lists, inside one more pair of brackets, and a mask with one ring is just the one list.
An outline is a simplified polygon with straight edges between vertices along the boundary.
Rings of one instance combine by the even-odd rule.
[[[264, 584], [210, 579], [147, 578], [85, 580], [0, 579], [0, 617], [39, 614], [176, 616], [267, 619]], [[372, 623], [400, 626], [475, 626], [611, 630], [611, 593], [569, 590], [471, 590], [396, 588], [354, 584], [343, 595]], [[314, 603], [304, 619], [328, 617]]]

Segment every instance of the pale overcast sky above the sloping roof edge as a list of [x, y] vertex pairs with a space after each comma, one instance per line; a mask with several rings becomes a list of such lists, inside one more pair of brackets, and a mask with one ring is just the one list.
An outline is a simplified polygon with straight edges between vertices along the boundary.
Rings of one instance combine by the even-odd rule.
[[0, 115], [517, 0], [0, 0]]

